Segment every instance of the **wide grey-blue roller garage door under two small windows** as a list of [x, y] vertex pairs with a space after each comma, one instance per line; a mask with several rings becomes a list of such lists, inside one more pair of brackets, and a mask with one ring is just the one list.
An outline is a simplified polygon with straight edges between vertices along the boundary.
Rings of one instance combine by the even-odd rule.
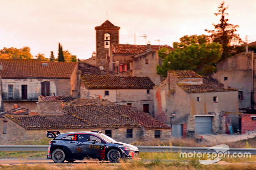
[[212, 134], [212, 116], [196, 116], [197, 134]]

